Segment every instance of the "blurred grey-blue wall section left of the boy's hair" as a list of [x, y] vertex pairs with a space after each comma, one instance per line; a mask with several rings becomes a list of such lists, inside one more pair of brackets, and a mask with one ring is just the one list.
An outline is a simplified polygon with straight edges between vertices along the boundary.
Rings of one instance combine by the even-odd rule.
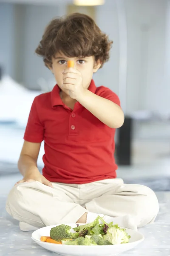
[[53, 79], [51, 72], [45, 67], [42, 58], [34, 51], [37, 48], [47, 24], [52, 18], [65, 14], [65, 6], [26, 6], [25, 17], [25, 53], [23, 81], [29, 88], [37, 87], [37, 80], [44, 77]]

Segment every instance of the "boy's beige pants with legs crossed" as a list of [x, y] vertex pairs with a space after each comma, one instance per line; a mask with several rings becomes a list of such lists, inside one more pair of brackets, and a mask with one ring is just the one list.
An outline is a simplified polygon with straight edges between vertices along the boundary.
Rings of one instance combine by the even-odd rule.
[[8, 195], [6, 211], [35, 227], [75, 223], [88, 211], [113, 217], [136, 215], [140, 219], [138, 227], [142, 227], [152, 223], [159, 212], [158, 200], [150, 188], [124, 184], [122, 179], [81, 185], [52, 184], [54, 188], [38, 181], [14, 186]]

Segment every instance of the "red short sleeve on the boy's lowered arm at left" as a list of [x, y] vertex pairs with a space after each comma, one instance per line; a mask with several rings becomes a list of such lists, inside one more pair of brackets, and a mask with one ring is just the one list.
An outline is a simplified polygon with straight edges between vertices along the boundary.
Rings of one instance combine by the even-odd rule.
[[40, 122], [37, 111], [37, 98], [34, 99], [28, 117], [24, 140], [41, 143], [44, 140], [44, 126]]

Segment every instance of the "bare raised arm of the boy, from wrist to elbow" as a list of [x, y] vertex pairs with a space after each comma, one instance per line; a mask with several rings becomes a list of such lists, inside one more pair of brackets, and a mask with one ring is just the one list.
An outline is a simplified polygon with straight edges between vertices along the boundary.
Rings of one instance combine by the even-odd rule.
[[84, 90], [84, 93], [77, 100], [105, 125], [111, 128], [119, 128], [123, 125], [125, 119], [124, 113], [111, 100], [98, 96], [89, 90]]

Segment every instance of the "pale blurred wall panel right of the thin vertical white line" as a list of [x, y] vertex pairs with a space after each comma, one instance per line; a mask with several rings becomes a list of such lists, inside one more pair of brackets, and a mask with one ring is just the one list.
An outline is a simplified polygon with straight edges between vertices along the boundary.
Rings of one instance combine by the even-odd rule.
[[164, 112], [168, 95], [164, 83], [167, 0], [128, 0], [127, 111]]

